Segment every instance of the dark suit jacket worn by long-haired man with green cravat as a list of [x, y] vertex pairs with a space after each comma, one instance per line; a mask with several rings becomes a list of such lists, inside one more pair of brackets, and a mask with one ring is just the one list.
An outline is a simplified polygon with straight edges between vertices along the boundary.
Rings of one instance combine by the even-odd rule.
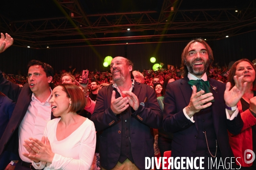
[[[188, 106], [192, 88], [187, 83], [188, 77], [177, 80], [168, 84], [166, 94], [163, 100], [163, 128], [166, 132], [173, 132], [172, 156], [173, 157], [195, 157], [197, 138], [195, 135], [202, 133], [198, 130], [196, 113], [194, 115], [195, 123], [192, 123], [183, 113], [183, 108]], [[234, 157], [230, 144], [227, 130], [233, 134], [238, 134], [243, 127], [240, 113], [232, 121], [227, 120], [225, 112], [224, 91], [225, 84], [208, 78], [210, 85], [217, 87], [215, 92], [212, 88], [214, 102], [212, 102], [212, 118], [214, 130], [216, 133], [218, 147], [221, 151], [221, 157]]]

